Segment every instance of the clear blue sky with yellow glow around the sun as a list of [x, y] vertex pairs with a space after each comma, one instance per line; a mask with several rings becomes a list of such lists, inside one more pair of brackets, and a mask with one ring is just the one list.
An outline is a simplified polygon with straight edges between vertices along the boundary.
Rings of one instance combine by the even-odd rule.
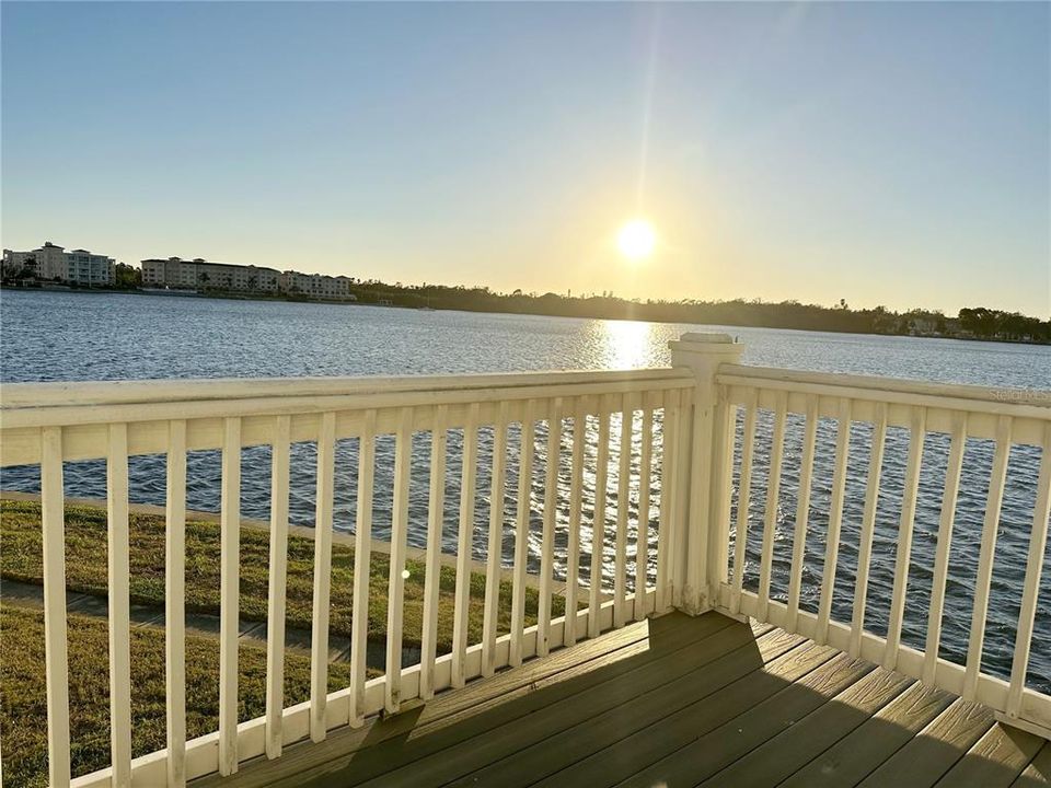
[[3, 245], [1047, 318], [1049, 8], [3, 2]]

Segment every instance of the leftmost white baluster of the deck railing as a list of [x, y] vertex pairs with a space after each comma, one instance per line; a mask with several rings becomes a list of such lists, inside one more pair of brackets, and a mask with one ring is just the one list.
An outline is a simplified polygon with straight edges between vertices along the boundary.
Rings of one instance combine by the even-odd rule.
[[44, 552], [44, 672], [47, 768], [51, 788], [69, 785], [69, 668], [66, 661], [66, 522], [62, 428], [41, 431], [41, 523]]

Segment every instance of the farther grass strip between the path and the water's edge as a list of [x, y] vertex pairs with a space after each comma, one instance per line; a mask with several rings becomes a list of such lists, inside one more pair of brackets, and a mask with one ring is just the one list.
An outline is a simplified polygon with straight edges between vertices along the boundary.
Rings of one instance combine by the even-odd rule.
[[[43, 583], [41, 546], [41, 505], [36, 501], [0, 500], [0, 577], [21, 582]], [[186, 523], [186, 610], [190, 613], [219, 614], [219, 525], [190, 520]], [[241, 529], [241, 596], [243, 621], [265, 622], [269, 582], [269, 534]], [[164, 518], [132, 512], [130, 515], [131, 603], [161, 607], [164, 604]], [[66, 586], [96, 596], [105, 596], [106, 510], [92, 506], [66, 507]], [[425, 568], [408, 560], [403, 607], [404, 641], [419, 646], [423, 627]], [[369, 569], [369, 638], [386, 639], [388, 581], [390, 561], [385, 554], [373, 553]], [[313, 610], [314, 540], [288, 537], [288, 581], [286, 625], [310, 629]], [[447, 652], [452, 642], [453, 592], [455, 570], [442, 567], [439, 578], [438, 650]], [[354, 605], [354, 549], [349, 545], [332, 547], [332, 592], [330, 631], [349, 636]], [[471, 575], [469, 640], [482, 638], [485, 576]], [[536, 621], [539, 594], [526, 589], [527, 626]], [[510, 625], [511, 583], [500, 583], [499, 629]], [[552, 616], [565, 611], [565, 600], [552, 599]]]

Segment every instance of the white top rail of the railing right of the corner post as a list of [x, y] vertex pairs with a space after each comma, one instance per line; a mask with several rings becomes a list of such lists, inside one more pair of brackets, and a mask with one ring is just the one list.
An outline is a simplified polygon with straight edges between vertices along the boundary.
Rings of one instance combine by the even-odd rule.
[[948, 409], [996, 412], [1037, 419], [1051, 418], [1051, 391], [1040, 389], [932, 383], [901, 378], [804, 372], [742, 364], [723, 364], [716, 380], [723, 385], [731, 386], [758, 386]]

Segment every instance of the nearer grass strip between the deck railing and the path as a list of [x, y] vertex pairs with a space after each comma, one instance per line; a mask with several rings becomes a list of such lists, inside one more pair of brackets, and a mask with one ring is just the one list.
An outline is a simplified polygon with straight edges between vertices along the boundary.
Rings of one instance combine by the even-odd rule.
[[[109, 670], [106, 622], [68, 616], [70, 756], [73, 775], [109, 765]], [[242, 644], [238, 718], [266, 709], [266, 650]], [[347, 686], [350, 665], [328, 669], [330, 691]], [[10, 788], [47, 785], [47, 707], [44, 683], [44, 614], [0, 607], [0, 740], [3, 784]], [[310, 659], [285, 656], [285, 704], [310, 697]], [[131, 630], [131, 746], [145, 755], [165, 746], [164, 631]], [[218, 728], [219, 641], [186, 638], [186, 735]]]

